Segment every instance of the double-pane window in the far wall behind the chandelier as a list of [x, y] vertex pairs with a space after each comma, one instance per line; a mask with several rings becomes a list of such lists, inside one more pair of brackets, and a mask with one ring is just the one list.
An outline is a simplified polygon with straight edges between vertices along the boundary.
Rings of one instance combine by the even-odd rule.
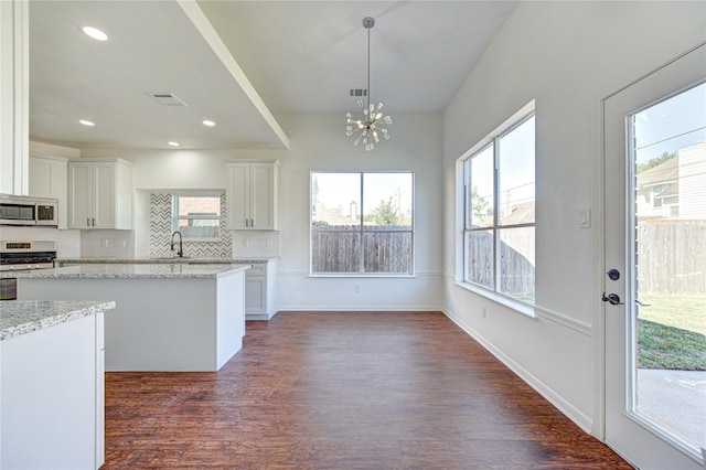
[[311, 274], [411, 275], [414, 174], [311, 173]]

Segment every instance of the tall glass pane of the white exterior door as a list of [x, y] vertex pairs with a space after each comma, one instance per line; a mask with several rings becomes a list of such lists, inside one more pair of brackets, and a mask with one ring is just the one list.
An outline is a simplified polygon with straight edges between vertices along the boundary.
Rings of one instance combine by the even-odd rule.
[[630, 116], [632, 410], [706, 447], [706, 84]]

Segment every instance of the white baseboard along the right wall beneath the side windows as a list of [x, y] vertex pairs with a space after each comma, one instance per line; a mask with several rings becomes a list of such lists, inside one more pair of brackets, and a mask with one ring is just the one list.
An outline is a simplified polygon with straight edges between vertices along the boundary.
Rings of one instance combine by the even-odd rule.
[[490, 341], [485, 340], [478, 331], [470, 328], [461, 319], [454, 316], [447, 309], [441, 310], [452, 322], [458, 324], [463, 331], [466, 331], [471, 338], [478, 341], [483, 348], [485, 348], [491, 354], [493, 354], [500, 362], [505, 364], [507, 368], [517, 374], [520, 378], [526, 382], [532, 388], [534, 388], [539, 395], [546, 398], [552, 405], [556, 406], [566, 417], [574, 421], [578, 427], [584, 429], [587, 434], [591, 434], [593, 420], [565, 400], [560, 395], [555, 393], [549, 386], [535, 377], [532, 373], [520, 366], [510, 356], [505, 355], [502, 351], [495, 348]]

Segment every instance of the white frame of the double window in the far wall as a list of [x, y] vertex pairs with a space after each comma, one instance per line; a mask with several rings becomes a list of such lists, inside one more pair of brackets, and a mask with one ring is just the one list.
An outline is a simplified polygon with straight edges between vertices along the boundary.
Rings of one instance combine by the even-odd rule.
[[[365, 200], [364, 200], [364, 192], [365, 192], [365, 174], [385, 174], [385, 173], [397, 173], [397, 174], [408, 174], [411, 178], [411, 188], [410, 188], [410, 199], [411, 199], [411, 221], [410, 221], [410, 229], [408, 231], [365, 231]], [[359, 234], [360, 239], [361, 239], [361, 249], [360, 249], [360, 254], [359, 254], [359, 270], [357, 271], [350, 271], [350, 273], [344, 273], [344, 271], [332, 271], [332, 273], [325, 273], [325, 271], [314, 271], [313, 270], [313, 237], [312, 237], [312, 223], [313, 223], [313, 217], [312, 217], [312, 211], [311, 207], [313, 206], [313, 204], [315, 203], [315, 201], [313, 200], [313, 175], [314, 174], [359, 174], [360, 175], [360, 190], [359, 190], [359, 195], [360, 195], [360, 215], [361, 215], [361, 220], [360, 220], [360, 225], [359, 228], [355, 231], [356, 234]], [[346, 278], [346, 277], [354, 277], [354, 278], [362, 278], [362, 277], [384, 277], [384, 278], [409, 278], [409, 277], [415, 277], [415, 172], [410, 171], [410, 170], [371, 170], [371, 171], [364, 171], [364, 170], [360, 170], [360, 171], [332, 171], [332, 170], [322, 170], [322, 171], [317, 171], [317, 170], [312, 170], [309, 172], [309, 277], [324, 277], [324, 278]], [[333, 231], [332, 231], [333, 232]], [[411, 260], [410, 260], [410, 271], [409, 273], [373, 273], [373, 271], [365, 271], [365, 252], [364, 252], [364, 244], [363, 244], [363, 239], [364, 239], [364, 235], [365, 234], [370, 234], [370, 233], [398, 233], [398, 232], [405, 232], [405, 233], [409, 233], [411, 241], [410, 241], [410, 250], [411, 250]]]

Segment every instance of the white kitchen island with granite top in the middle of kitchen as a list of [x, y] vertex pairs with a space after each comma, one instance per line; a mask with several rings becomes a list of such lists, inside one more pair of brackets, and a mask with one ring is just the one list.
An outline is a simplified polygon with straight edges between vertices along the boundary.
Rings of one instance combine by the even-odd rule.
[[217, 371], [243, 346], [237, 264], [86, 264], [17, 273], [18, 299], [117, 303], [106, 371]]

